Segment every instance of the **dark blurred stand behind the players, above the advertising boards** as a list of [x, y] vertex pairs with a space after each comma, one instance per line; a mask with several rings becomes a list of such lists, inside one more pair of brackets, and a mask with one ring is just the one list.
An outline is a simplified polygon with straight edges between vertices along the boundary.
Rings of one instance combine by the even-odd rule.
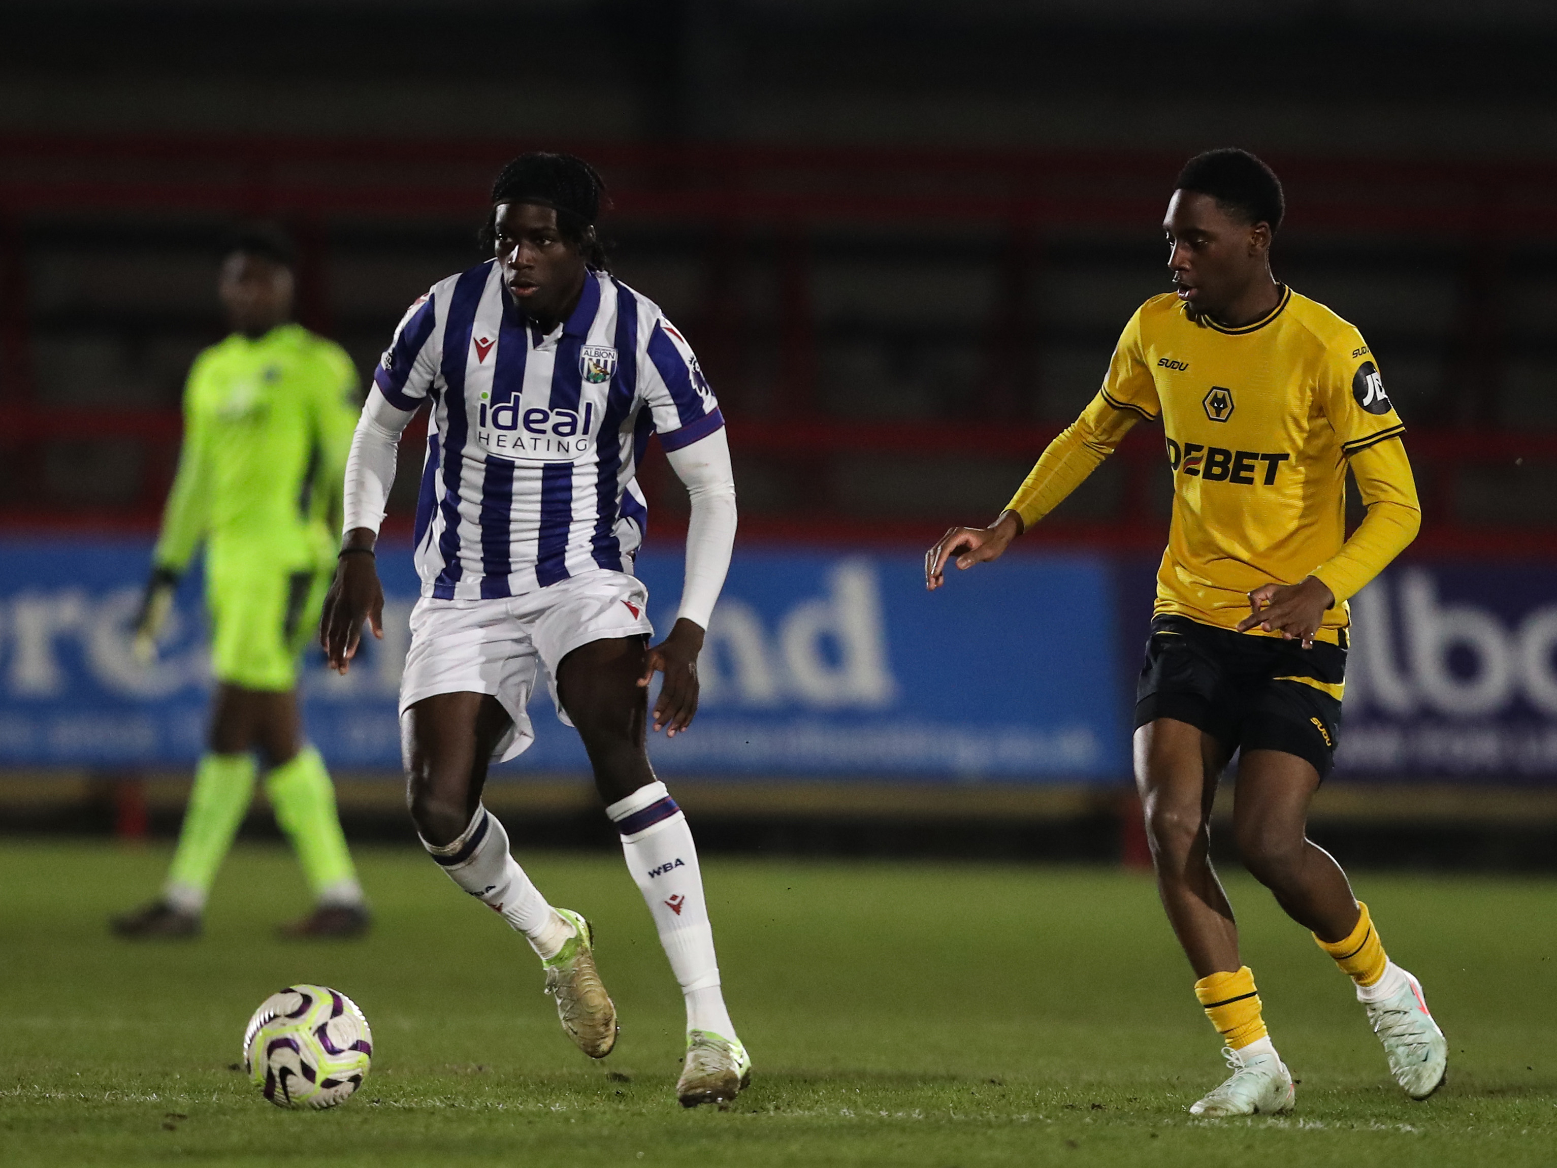
[[[1411, 427], [1411, 554], [1549, 559], [1554, 59], [1557, 8], [1515, 0], [0, 3], [0, 525], [156, 528], [235, 221], [296, 234], [301, 318], [366, 377], [547, 146], [596, 162], [617, 269], [708, 369], [743, 539], [923, 545], [1090, 399], [1166, 288], [1179, 165], [1238, 145], [1288, 184], [1278, 277]], [[1157, 442], [1042, 542], [1138, 575]]]

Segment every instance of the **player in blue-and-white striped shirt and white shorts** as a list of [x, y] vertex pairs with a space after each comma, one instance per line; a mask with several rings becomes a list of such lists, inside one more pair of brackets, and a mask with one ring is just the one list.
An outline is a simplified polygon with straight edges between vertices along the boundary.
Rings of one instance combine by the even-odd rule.
[[[589, 922], [553, 908], [481, 805], [487, 763], [534, 740], [545, 684], [579, 732], [687, 1003], [684, 1106], [730, 1099], [750, 1059], [726, 1011], [691, 830], [645, 752], [698, 709], [698, 653], [735, 540], [724, 419], [691, 349], [617, 280], [595, 234], [601, 182], [565, 154], [525, 154], [492, 187], [494, 259], [439, 280], [394, 335], [346, 472], [346, 537], [321, 623], [343, 673], [364, 620], [380, 631], [374, 544], [400, 431], [433, 425], [416, 517], [422, 598], [400, 690], [408, 800], [428, 853], [540, 956], [562, 1026], [592, 1057], [617, 1040]], [[632, 575], [646, 509], [634, 478], [659, 434], [691, 495], [687, 575], [670, 634], [649, 646]]]

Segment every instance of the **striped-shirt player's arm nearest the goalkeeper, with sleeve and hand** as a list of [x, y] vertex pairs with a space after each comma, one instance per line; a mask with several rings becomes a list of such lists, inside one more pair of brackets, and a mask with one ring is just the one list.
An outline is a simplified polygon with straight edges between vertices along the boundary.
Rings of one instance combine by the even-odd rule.
[[428, 293], [411, 305], [394, 341], [374, 371], [363, 413], [346, 458], [341, 508], [343, 539], [335, 579], [319, 617], [319, 643], [332, 670], [346, 673], [363, 637], [363, 621], [383, 637], [385, 592], [378, 581], [375, 545], [394, 486], [400, 434], [427, 400], [438, 377], [441, 338], [438, 304]]

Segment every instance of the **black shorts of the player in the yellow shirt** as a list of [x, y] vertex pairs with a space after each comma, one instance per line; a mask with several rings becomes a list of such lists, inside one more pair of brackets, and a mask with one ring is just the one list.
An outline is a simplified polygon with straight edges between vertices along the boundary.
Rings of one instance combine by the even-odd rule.
[[[1344, 637], [1345, 634], [1342, 634]], [[1285, 751], [1323, 779], [1341, 737], [1347, 651], [1157, 617], [1135, 687], [1135, 726], [1174, 718], [1222, 741], [1228, 754]], [[1322, 688], [1322, 687], [1328, 687]]]

